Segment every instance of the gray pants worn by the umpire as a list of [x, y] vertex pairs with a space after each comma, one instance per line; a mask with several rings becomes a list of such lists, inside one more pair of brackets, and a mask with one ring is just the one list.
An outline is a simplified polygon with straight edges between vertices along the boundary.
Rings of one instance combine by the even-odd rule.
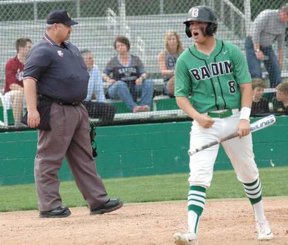
[[88, 207], [93, 209], [106, 203], [109, 197], [92, 156], [85, 106], [53, 103], [49, 122], [51, 131], [38, 130], [34, 165], [39, 211], [49, 211], [62, 205], [57, 173], [64, 157]]

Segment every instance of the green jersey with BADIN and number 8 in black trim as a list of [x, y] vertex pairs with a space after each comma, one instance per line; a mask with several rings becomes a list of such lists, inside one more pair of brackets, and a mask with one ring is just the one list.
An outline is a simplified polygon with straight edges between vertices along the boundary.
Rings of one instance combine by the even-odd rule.
[[175, 67], [175, 96], [191, 95], [199, 113], [241, 108], [239, 84], [251, 81], [239, 47], [217, 39], [210, 55], [197, 51], [195, 44], [180, 55]]

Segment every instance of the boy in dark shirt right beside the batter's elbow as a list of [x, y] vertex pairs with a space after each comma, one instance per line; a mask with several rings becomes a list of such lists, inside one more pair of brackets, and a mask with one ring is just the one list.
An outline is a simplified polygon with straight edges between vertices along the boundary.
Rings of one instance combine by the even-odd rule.
[[261, 78], [252, 79], [253, 101], [251, 114], [269, 112], [268, 100], [263, 97], [265, 83]]

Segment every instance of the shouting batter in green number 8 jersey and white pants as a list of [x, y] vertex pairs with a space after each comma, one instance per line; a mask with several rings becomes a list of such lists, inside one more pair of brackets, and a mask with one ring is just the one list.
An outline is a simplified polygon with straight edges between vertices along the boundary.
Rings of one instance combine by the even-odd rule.
[[[249, 122], [252, 88], [247, 63], [237, 46], [214, 37], [218, 22], [211, 8], [193, 7], [184, 23], [187, 36], [193, 37], [195, 43], [177, 60], [175, 97], [179, 108], [193, 118], [190, 149], [239, 131], [239, 137], [222, 145], [253, 206], [258, 239], [270, 240], [273, 234], [264, 214], [252, 151]], [[189, 230], [186, 234], [175, 233], [175, 244], [197, 242], [197, 228], [218, 149], [219, 144], [190, 157]]]

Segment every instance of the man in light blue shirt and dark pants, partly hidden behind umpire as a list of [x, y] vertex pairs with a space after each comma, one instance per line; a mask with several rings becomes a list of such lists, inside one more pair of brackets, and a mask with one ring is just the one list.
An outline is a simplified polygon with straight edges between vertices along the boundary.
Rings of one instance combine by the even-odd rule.
[[[93, 54], [90, 50], [83, 50], [81, 55], [90, 75], [87, 97], [83, 101], [88, 115], [91, 118], [99, 118], [100, 121], [111, 121], [116, 113], [116, 107], [111, 103], [105, 103], [103, 80], [98, 66], [94, 64]], [[91, 101], [93, 94], [97, 101]]]

